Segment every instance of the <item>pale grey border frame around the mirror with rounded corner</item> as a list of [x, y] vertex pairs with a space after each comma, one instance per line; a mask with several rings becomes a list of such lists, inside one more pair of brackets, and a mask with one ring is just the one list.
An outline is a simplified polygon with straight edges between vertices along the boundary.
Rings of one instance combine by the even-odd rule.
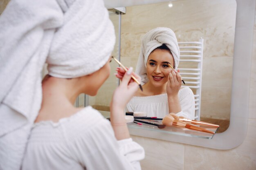
[[[104, 0], [107, 8], [168, 2], [167, 0]], [[256, 0], [236, 0], [236, 28], [229, 128], [212, 139], [186, 137], [143, 129], [129, 128], [131, 135], [162, 139], [214, 149], [231, 149], [242, 144], [247, 134], [249, 87]], [[239, 68], [239, 69], [237, 69]], [[243, 87], [243, 90], [241, 89]]]

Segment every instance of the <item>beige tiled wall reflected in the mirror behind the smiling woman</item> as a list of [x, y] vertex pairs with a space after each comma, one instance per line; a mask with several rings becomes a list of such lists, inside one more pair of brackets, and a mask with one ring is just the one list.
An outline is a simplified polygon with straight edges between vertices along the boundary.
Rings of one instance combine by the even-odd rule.
[[126, 8], [121, 22], [121, 62], [135, 68], [143, 35], [159, 26], [173, 29], [179, 42], [202, 37], [201, 117], [229, 120], [236, 1], [178, 0], [171, 8], [168, 3]]

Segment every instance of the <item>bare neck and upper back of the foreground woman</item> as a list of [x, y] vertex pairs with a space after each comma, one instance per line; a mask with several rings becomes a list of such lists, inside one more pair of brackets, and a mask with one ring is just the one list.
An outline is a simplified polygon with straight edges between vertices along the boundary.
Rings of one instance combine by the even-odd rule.
[[79, 95], [74, 88], [74, 80], [49, 77], [43, 81], [43, 100], [35, 122], [52, 120], [58, 122], [63, 117], [69, 117], [81, 108], [73, 106]]

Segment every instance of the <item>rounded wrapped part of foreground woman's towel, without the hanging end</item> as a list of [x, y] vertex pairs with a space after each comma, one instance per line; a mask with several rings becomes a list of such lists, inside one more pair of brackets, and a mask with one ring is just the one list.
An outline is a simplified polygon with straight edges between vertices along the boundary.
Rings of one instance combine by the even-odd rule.
[[106, 64], [114, 45], [114, 26], [103, 2], [76, 0], [54, 34], [46, 60], [49, 75], [74, 78], [93, 73]]

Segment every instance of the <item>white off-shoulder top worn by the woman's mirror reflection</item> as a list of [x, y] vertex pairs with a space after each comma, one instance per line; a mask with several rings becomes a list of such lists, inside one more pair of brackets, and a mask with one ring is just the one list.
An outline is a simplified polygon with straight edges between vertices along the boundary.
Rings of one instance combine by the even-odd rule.
[[[193, 91], [189, 87], [181, 88], [179, 99], [182, 111], [177, 115], [195, 119], [195, 97]], [[146, 112], [148, 117], [163, 118], [169, 114], [167, 94], [132, 97], [126, 105], [125, 112]]]

